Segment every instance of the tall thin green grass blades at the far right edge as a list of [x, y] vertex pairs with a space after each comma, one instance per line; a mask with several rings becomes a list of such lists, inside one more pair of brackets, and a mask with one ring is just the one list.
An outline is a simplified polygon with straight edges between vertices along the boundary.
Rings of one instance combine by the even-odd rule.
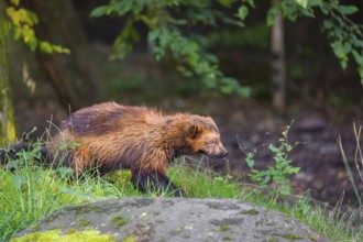
[[[362, 127], [360, 127], [359, 129], [356, 128], [355, 123], [353, 123], [353, 131], [354, 131], [354, 136], [355, 136], [355, 142], [356, 142], [356, 147], [355, 147], [355, 157], [354, 157], [354, 165], [360, 178], [361, 184], [363, 184], [363, 153], [362, 153], [362, 148], [361, 148], [361, 133], [362, 133]], [[363, 190], [359, 190], [359, 186], [356, 185], [355, 180], [354, 180], [354, 176], [350, 166], [350, 163], [348, 161], [348, 157], [345, 155], [344, 148], [343, 148], [343, 142], [341, 140], [341, 138], [339, 136], [338, 139], [338, 145], [343, 158], [343, 163], [348, 173], [348, 177], [349, 180], [351, 182], [359, 206], [361, 209], [363, 209]]]

